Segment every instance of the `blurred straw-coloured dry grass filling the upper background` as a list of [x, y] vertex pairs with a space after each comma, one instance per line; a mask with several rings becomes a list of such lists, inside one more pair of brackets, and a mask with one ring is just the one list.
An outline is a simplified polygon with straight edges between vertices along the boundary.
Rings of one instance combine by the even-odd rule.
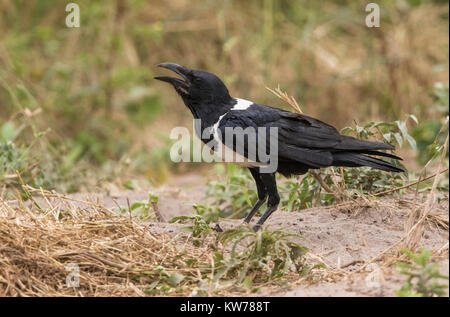
[[[73, 65], [81, 52], [108, 61], [108, 67], [95, 71], [92, 67], [74, 67], [70, 93], [75, 95], [86, 83], [102, 83], [110, 70], [142, 67], [158, 72], [154, 65], [173, 61], [217, 73], [234, 96], [275, 106], [261, 87], [280, 83], [301, 100], [306, 113], [345, 126], [367, 117], [397, 118], [412, 112], [427, 117], [432, 103], [430, 87], [437, 81], [448, 81], [448, 27], [442, 18], [448, 15], [447, 5], [421, 5], [402, 12], [394, 3], [383, 3], [386, 21], [375, 31], [362, 23], [364, 6], [350, 1], [346, 5], [333, 1], [326, 5], [265, 1], [262, 5], [178, 0], [141, 2], [134, 7], [120, 0], [102, 4], [103, 14], [95, 16], [92, 25], [84, 25], [81, 32], [67, 33], [60, 27], [66, 14], [63, 6], [36, 10], [39, 17], [33, 15], [33, 6], [37, 1], [30, 1], [23, 10], [12, 0], [2, 1], [0, 12], [5, 18], [0, 19], [0, 30], [4, 31], [0, 38], [11, 36], [14, 30], [8, 25], [8, 16], [21, 12], [21, 19], [28, 21], [23, 28], [47, 27], [61, 36], [58, 62]], [[98, 27], [97, 23], [114, 32], [92, 36], [89, 29]], [[156, 35], [141, 34], [145, 30], [154, 30]], [[112, 36], [123, 43], [117, 52], [111, 49]], [[60, 96], [46, 90], [40, 77], [55, 58], [39, 46], [30, 48], [23, 58], [31, 69], [20, 78], [12, 67], [16, 53], [7, 44], [6, 40], [0, 43], [0, 63], [8, 71], [5, 80], [10, 84], [19, 80], [29, 83], [38, 104], [55, 104], [59, 109]], [[433, 71], [435, 65], [444, 65], [444, 69]], [[174, 123], [187, 125], [190, 117], [179, 111], [178, 97], [155, 82], [149, 85], [164, 95], [164, 118], [170, 122], [160, 120], [147, 129], [168, 131]], [[125, 93], [120, 87], [110, 92], [111, 103], [121, 101]], [[426, 105], [421, 113], [414, 109], [418, 105]], [[84, 104], [79, 107], [90, 110]], [[58, 113], [47, 113], [50, 117], [44, 117], [45, 122], [58, 118]], [[53, 121], [52, 125], [65, 127], [66, 121]], [[158, 142], [151, 133], [143, 135], [146, 144]]]

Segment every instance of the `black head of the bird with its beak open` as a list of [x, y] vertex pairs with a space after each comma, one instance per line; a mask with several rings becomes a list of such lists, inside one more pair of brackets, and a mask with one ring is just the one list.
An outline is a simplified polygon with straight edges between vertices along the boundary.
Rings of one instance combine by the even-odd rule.
[[231, 99], [225, 84], [213, 73], [174, 63], [162, 63], [158, 66], [170, 69], [181, 77], [158, 76], [155, 79], [171, 84], [185, 103], [221, 103]]

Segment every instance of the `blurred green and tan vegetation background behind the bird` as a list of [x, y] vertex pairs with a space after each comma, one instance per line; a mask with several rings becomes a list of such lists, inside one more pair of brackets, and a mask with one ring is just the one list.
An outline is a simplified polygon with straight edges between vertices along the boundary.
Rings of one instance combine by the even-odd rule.
[[160, 62], [286, 107], [265, 89], [280, 85], [338, 128], [414, 114], [409, 168], [427, 162], [448, 116], [447, 1], [376, 1], [379, 28], [365, 25], [370, 1], [78, 0], [80, 28], [65, 26], [68, 2], [0, 0], [3, 189], [161, 183], [198, 167], [170, 162], [170, 130], [192, 118], [153, 80]]

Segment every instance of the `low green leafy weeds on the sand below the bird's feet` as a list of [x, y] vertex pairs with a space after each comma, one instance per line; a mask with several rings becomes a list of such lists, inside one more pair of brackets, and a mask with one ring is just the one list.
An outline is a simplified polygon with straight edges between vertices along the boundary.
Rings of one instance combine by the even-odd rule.
[[288, 273], [306, 275], [312, 269], [306, 264], [307, 248], [293, 239], [297, 234], [284, 230], [263, 228], [258, 232], [246, 225], [217, 233], [211, 229], [202, 215], [174, 217], [170, 222], [183, 222], [180, 230], [193, 237], [193, 244], [204, 246], [208, 241], [214, 251], [209, 276], [212, 283], [241, 285], [253, 292], [254, 284], [283, 278]]

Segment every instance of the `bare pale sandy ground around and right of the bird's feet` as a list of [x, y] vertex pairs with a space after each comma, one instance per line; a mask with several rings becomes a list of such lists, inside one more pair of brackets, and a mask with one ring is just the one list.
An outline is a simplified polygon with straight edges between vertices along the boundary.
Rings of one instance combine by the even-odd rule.
[[[180, 224], [170, 224], [174, 216], [192, 213], [192, 203], [204, 197], [205, 186], [195, 176], [183, 176], [156, 189], [159, 196], [158, 210], [163, 218], [159, 223], [148, 223], [151, 231], [177, 233]], [[109, 194], [75, 194], [75, 198], [101, 201], [108, 208], [126, 206], [146, 200], [147, 192], [124, 191]], [[423, 198], [422, 198], [423, 199]], [[419, 201], [416, 201], [419, 203]], [[414, 204], [413, 196], [399, 199], [383, 199], [352, 210], [345, 208], [311, 208], [297, 212], [277, 211], [266, 222], [270, 228], [284, 228], [301, 234], [298, 241], [319, 256], [329, 268], [345, 268], [354, 272], [368, 261], [397, 242], [403, 234], [403, 225]], [[392, 206], [396, 208], [393, 209]], [[388, 206], [390, 208], [388, 208]], [[439, 204], [435, 210], [448, 219], [448, 202]], [[254, 221], [256, 221], [255, 217]], [[237, 226], [240, 220], [223, 220], [224, 229]], [[449, 241], [448, 231], [428, 224], [421, 244], [432, 250], [440, 249]], [[448, 253], [440, 259], [442, 273], [448, 276]], [[350, 274], [337, 281], [320, 281], [315, 284], [298, 285], [287, 289], [256, 294], [257, 296], [395, 296], [405, 278], [395, 267], [380, 268], [371, 264], [361, 273]]]

